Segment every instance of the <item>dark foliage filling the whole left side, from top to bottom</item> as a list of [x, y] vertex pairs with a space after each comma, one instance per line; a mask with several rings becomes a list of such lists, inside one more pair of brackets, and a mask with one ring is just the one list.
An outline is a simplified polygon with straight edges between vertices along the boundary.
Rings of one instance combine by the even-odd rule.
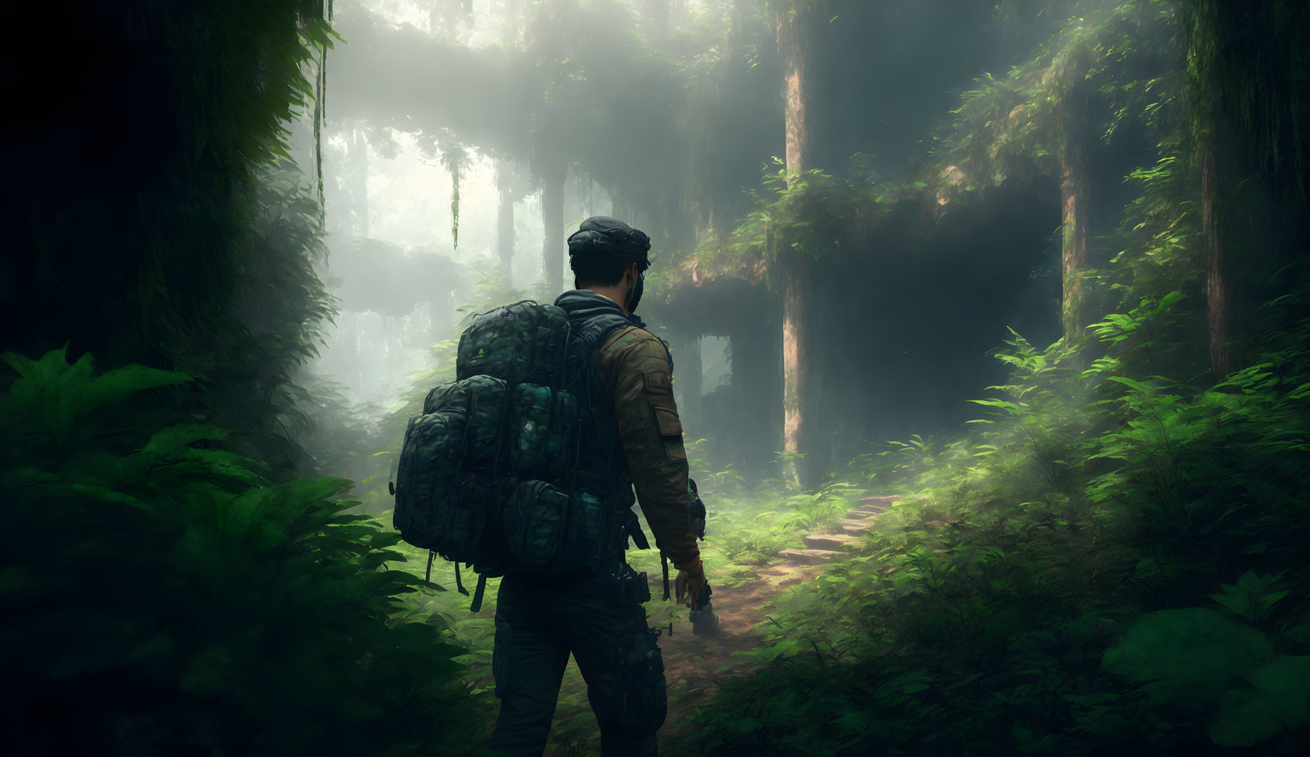
[[287, 138], [322, 115], [325, 4], [85, 5], [50, 67], [7, 67], [34, 105], [7, 123], [30, 179], [0, 378], [9, 750], [469, 748], [460, 648], [401, 602], [439, 587], [345, 512], [348, 481], [295, 478], [331, 303]]

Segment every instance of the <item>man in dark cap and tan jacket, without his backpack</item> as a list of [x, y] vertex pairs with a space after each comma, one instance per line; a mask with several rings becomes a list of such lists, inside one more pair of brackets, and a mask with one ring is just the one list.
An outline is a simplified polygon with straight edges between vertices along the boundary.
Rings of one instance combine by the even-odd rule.
[[[617, 430], [626, 461], [614, 469], [620, 485], [629, 492], [637, 490], [656, 546], [679, 570], [677, 601], [686, 596], [696, 606], [705, 572], [692, 533], [686, 452], [669, 355], [633, 314], [650, 246], [650, 237], [622, 221], [587, 219], [569, 237], [576, 289], [561, 295], [555, 305], [569, 314], [575, 334], [604, 334], [591, 355], [596, 380], [591, 401], [600, 403]], [[631, 503], [630, 494], [626, 503]], [[626, 542], [631, 536], [641, 544], [645, 537], [634, 525], [633, 517], [621, 538]], [[609, 568], [569, 580], [510, 572], [500, 582], [493, 659], [500, 715], [493, 748], [514, 756], [541, 754], [571, 652], [600, 724], [601, 754], [656, 753], [665, 684], [655, 631], [641, 606], [650, 589], [624, 562], [621, 546], [616, 554]]]

